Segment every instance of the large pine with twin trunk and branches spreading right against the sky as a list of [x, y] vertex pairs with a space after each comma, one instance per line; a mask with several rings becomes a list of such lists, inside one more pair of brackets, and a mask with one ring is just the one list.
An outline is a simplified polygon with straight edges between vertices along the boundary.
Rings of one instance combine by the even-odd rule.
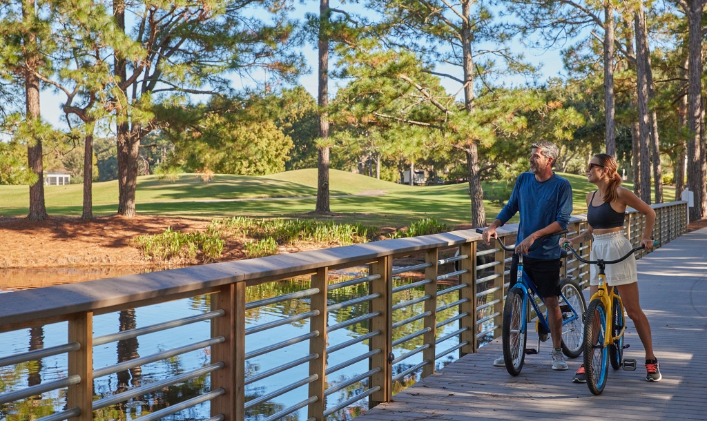
[[[125, 25], [127, 7], [134, 16], [133, 28]], [[273, 23], [263, 23], [253, 8], [266, 9]], [[112, 102], [120, 215], [135, 215], [140, 143], [159, 127], [153, 112], [158, 102], [178, 105], [189, 94], [227, 94], [227, 73], [251, 77], [264, 69], [271, 78], [293, 81], [303, 69], [300, 54], [288, 51], [296, 45], [296, 25], [287, 19], [287, 9], [286, 2], [267, 0], [144, 0], [134, 6], [113, 0], [118, 30], [144, 49], [136, 60], [115, 52]]]

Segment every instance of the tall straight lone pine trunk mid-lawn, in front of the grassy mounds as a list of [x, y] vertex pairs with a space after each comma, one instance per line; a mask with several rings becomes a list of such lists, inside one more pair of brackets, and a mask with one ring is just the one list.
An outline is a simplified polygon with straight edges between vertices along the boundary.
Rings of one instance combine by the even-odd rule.
[[[329, 0], [320, 0], [319, 17], [319, 137], [326, 141], [329, 138], [329, 119], [325, 112], [325, 107], [329, 105], [329, 34], [326, 29], [329, 22]], [[325, 146], [319, 150], [315, 212], [329, 211], [329, 147]]]

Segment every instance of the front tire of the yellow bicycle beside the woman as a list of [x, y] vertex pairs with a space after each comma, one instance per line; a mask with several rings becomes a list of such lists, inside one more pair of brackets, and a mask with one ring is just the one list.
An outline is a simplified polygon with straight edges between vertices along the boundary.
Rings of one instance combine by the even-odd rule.
[[[584, 324], [584, 370], [589, 390], [600, 395], [607, 384], [609, 374], [609, 350], [604, 346], [607, 328], [607, 311], [598, 298], [592, 300], [587, 309]], [[597, 348], [595, 348], [597, 347]]]

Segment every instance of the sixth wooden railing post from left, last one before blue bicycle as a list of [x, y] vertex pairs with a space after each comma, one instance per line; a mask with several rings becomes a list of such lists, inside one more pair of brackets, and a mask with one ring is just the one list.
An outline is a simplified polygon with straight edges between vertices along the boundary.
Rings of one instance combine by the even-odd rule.
[[459, 328], [468, 328], [460, 335], [460, 342], [467, 341], [469, 345], [464, 345], [459, 350], [459, 356], [477, 352], [477, 242], [468, 242], [460, 246], [459, 254], [466, 254], [469, 259], [464, 259], [460, 263], [460, 269], [467, 270], [467, 273], [459, 275], [459, 283], [469, 285], [459, 290], [459, 299], [469, 299], [459, 306], [459, 313], [469, 313], [459, 319]]

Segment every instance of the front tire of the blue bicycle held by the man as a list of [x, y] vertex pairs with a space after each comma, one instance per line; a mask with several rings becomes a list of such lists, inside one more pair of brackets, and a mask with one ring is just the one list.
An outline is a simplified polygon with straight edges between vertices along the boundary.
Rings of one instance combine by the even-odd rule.
[[503, 305], [503, 361], [511, 376], [518, 376], [525, 361], [527, 328], [521, 326], [523, 311], [523, 291], [512, 287]]

